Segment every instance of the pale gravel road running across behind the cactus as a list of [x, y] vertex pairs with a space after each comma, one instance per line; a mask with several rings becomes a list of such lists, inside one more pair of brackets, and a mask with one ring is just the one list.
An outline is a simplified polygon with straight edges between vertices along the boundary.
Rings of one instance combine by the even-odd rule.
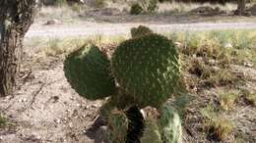
[[[64, 38], [74, 36], [91, 36], [95, 34], [128, 34], [133, 26], [139, 24], [33, 24], [26, 37]], [[157, 32], [180, 30], [245, 29], [255, 28], [255, 23], [193, 23], [193, 24], [145, 24]]]

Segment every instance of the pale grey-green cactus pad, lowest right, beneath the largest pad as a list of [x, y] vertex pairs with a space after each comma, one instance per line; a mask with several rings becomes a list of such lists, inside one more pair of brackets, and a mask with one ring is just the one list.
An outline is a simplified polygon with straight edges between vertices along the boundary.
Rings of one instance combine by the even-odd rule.
[[162, 142], [182, 143], [181, 120], [176, 110], [168, 104], [160, 108], [159, 128]]

